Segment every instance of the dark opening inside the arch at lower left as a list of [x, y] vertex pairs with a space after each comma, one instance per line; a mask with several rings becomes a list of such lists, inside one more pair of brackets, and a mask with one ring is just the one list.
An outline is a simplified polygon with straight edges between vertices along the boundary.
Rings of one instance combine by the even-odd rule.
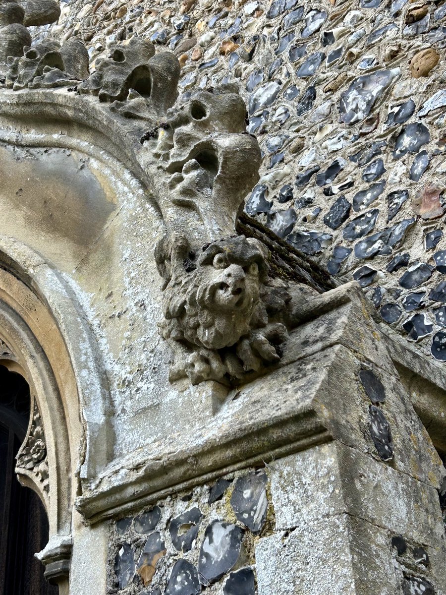
[[48, 519], [39, 496], [22, 487], [15, 455], [28, 427], [26, 381], [0, 366], [0, 595], [57, 595], [34, 553], [48, 543]]

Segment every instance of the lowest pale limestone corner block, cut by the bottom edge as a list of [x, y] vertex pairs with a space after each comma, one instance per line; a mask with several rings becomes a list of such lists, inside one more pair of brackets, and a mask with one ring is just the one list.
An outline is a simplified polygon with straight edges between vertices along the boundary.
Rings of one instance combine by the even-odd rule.
[[260, 539], [259, 595], [395, 595], [385, 530], [341, 514]]

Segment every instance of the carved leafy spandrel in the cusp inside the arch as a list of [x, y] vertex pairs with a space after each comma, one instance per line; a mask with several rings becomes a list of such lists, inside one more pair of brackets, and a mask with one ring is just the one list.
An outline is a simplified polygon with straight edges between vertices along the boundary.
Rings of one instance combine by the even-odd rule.
[[37, 403], [34, 402], [33, 419], [27, 437], [17, 455], [17, 472], [26, 469], [37, 477], [44, 492], [49, 491], [48, 456], [42, 418]]

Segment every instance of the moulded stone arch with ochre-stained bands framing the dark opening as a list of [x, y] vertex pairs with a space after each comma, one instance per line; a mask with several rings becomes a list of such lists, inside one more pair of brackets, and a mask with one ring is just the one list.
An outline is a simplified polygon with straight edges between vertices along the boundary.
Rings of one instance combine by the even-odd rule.
[[[93, 481], [112, 458], [112, 406], [73, 291], [42, 256], [7, 237], [0, 237], [0, 340], [1, 364], [30, 386], [31, 416], [16, 472], [48, 514], [49, 543], [39, 558], [57, 582], [69, 570], [74, 499], [82, 482]], [[34, 456], [32, 465], [36, 437], [45, 456]]]

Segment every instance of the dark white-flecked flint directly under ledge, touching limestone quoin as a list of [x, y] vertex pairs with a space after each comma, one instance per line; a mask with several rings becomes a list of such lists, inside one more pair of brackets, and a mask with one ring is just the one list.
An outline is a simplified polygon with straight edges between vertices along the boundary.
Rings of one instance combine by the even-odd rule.
[[243, 475], [235, 481], [231, 496], [231, 506], [235, 516], [253, 533], [260, 533], [266, 522], [268, 509], [266, 484], [268, 484], [268, 477], [265, 471]]

